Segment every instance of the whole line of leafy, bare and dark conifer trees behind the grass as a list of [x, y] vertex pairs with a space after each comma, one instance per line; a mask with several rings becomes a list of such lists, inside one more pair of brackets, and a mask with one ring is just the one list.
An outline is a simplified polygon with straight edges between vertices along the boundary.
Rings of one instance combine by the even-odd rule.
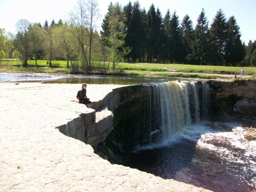
[[[14, 36], [0, 28], [0, 58], [67, 60], [73, 72], [105, 71], [121, 61], [216, 66], [255, 66], [256, 40], [246, 45], [236, 18], [219, 9], [210, 24], [204, 9], [194, 24], [169, 9], [164, 17], [152, 4], [139, 1], [122, 6], [110, 3], [103, 21], [97, 0], [78, 0], [57, 23], [30, 23], [20, 19]], [[96, 29], [101, 24], [100, 32]], [[37, 64], [36, 64], [37, 65]]]

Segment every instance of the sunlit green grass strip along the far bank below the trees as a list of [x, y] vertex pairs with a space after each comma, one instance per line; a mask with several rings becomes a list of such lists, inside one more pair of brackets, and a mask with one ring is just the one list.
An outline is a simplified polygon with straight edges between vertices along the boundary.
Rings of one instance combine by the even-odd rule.
[[[37, 60], [36, 68], [35, 60], [28, 60], [28, 68], [21, 67], [20, 60], [1, 61], [0, 72], [7, 73], [71, 73], [67, 68], [67, 61], [52, 61], [54, 68], [46, 65], [46, 60]], [[18, 66], [17, 66], [18, 65]], [[70, 65], [70, 63], [69, 63]], [[102, 67], [102, 63], [95, 66]], [[43, 67], [44, 66], [44, 67]], [[122, 69], [122, 75], [131, 76], [163, 76], [163, 77], [181, 77], [181, 78], [201, 78], [216, 79], [227, 78], [225, 75], [234, 75], [241, 73], [242, 67], [225, 67], [225, 66], [201, 66], [201, 65], [184, 65], [184, 64], [155, 64], [154, 63], [119, 63], [117, 71]], [[244, 75], [252, 75], [252, 79], [256, 77], [256, 68], [243, 67]], [[94, 71], [95, 74], [99, 71]]]

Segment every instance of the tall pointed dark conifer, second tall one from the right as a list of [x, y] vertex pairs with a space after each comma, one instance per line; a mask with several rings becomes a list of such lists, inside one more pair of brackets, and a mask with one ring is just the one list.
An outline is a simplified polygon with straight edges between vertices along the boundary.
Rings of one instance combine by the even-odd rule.
[[217, 11], [217, 14], [213, 18], [210, 32], [212, 41], [212, 55], [216, 55], [216, 57], [213, 59], [214, 61], [216, 59], [215, 62], [218, 62], [219, 65], [222, 65], [227, 38], [227, 22], [221, 9]]

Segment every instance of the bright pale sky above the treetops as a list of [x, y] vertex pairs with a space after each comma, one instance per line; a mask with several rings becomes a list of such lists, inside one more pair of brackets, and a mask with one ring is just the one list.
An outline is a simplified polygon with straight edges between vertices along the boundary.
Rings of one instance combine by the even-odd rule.
[[[103, 19], [111, 1], [98, 0], [98, 2]], [[117, 0], [112, 2], [115, 3]], [[119, 0], [118, 2], [124, 6], [128, 4], [129, 0]], [[194, 25], [196, 25], [202, 8], [204, 8], [210, 23], [221, 8], [227, 18], [235, 16], [237, 24], [240, 26], [242, 41], [247, 44], [249, 40], [256, 40], [256, 0], [140, 0], [139, 2], [140, 7], [145, 7], [147, 11], [153, 3], [156, 8], [159, 7], [163, 17], [168, 8], [171, 13], [176, 10], [180, 20], [188, 14]], [[65, 20], [67, 13], [73, 9], [75, 4], [76, 0], [0, 0], [0, 28], [5, 28], [6, 31], [16, 34], [15, 23], [19, 19], [40, 22], [42, 25], [45, 20], [48, 20], [48, 23], [52, 19], [55, 22], [58, 22], [59, 19]], [[98, 30], [101, 29], [101, 22], [102, 20], [98, 24]]]

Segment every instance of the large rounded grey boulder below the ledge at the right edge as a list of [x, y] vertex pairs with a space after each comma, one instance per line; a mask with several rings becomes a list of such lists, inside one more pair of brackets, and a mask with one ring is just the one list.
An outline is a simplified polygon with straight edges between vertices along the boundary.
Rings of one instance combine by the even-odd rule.
[[236, 112], [237, 115], [244, 117], [255, 117], [256, 116], [256, 101], [241, 99], [236, 101], [233, 111]]

